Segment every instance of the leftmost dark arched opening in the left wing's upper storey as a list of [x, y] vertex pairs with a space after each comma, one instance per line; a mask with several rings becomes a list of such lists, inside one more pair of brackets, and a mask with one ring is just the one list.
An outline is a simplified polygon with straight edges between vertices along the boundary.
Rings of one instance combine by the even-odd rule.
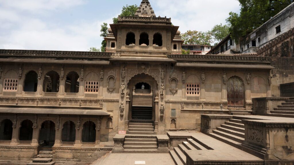
[[24, 80], [24, 91], [25, 92], [36, 92], [38, 86], [38, 74], [35, 71], [30, 71], [26, 74]]

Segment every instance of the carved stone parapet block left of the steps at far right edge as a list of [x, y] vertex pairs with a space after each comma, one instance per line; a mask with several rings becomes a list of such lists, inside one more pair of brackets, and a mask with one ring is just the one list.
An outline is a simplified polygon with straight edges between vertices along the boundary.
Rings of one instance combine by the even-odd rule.
[[261, 97], [253, 98], [253, 114], [263, 115], [270, 113], [271, 110], [281, 105], [285, 100], [289, 100], [289, 97]]

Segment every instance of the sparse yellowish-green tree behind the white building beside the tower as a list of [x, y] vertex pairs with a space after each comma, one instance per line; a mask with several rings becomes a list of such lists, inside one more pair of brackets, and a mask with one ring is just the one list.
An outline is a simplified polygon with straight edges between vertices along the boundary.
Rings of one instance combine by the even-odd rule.
[[185, 44], [211, 45], [211, 34], [201, 31], [187, 31], [181, 34]]

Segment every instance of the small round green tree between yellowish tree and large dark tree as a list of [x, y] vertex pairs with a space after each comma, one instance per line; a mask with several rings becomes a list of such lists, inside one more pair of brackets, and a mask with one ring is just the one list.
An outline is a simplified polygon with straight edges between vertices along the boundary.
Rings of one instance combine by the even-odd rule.
[[228, 25], [216, 25], [214, 26], [209, 33], [213, 36], [213, 39], [217, 42], [222, 41], [226, 36], [230, 34]]

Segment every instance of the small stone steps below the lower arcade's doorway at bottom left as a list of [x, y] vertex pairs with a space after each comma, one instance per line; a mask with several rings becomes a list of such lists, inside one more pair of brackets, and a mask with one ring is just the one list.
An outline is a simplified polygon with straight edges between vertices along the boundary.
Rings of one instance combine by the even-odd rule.
[[39, 151], [37, 158], [33, 159], [33, 161], [27, 165], [54, 165], [55, 161], [52, 161], [52, 158], [52, 151]]

